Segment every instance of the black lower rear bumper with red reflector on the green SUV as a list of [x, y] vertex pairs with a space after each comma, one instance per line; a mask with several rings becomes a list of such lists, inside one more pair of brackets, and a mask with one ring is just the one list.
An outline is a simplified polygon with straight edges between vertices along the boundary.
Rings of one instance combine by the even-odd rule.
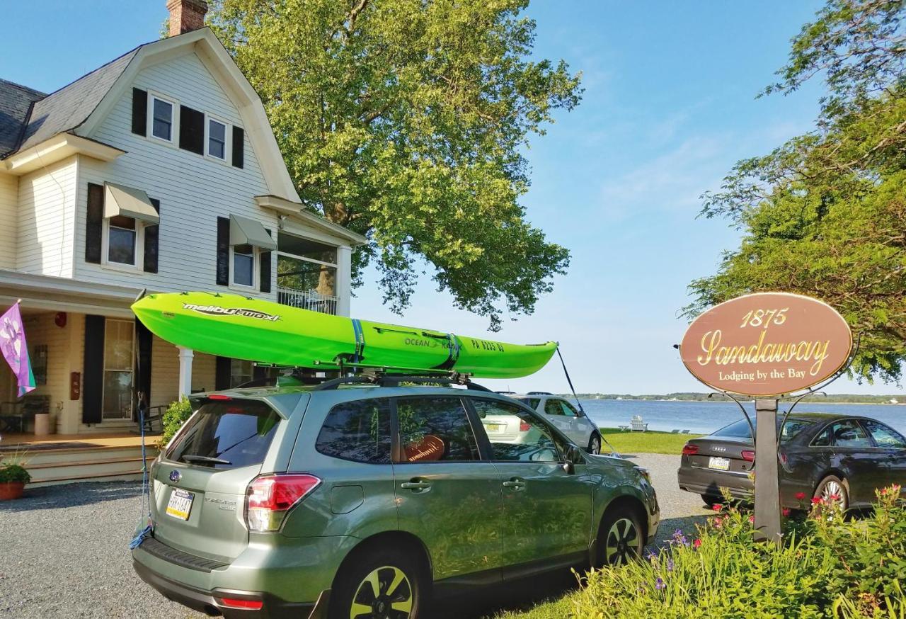
[[[239, 617], [255, 617], [255, 619], [299, 619], [310, 617], [315, 619], [320, 614], [315, 614], [315, 604], [298, 604], [286, 602], [274, 595], [259, 594], [249, 591], [217, 590], [205, 591], [192, 586], [178, 583], [154, 572], [148, 566], [141, 564], [137, 559], [132, 560], [132, 566], [139, 577], [157, 589], [164, 597], [188, 606], [192, 610], [210, 616], [223, 615], [226, 619]], [[217, 601], [218, 598], [230, 597], [246, 600], [260, 600], [263, 603], [261, 610], [240, 610], [225, 608]], [[326, 609], [326, 604], [321, 604]], [[320, 610], [320, 609], [319, 609]], [[326, 614], [324, 614], [326, 616]]]

